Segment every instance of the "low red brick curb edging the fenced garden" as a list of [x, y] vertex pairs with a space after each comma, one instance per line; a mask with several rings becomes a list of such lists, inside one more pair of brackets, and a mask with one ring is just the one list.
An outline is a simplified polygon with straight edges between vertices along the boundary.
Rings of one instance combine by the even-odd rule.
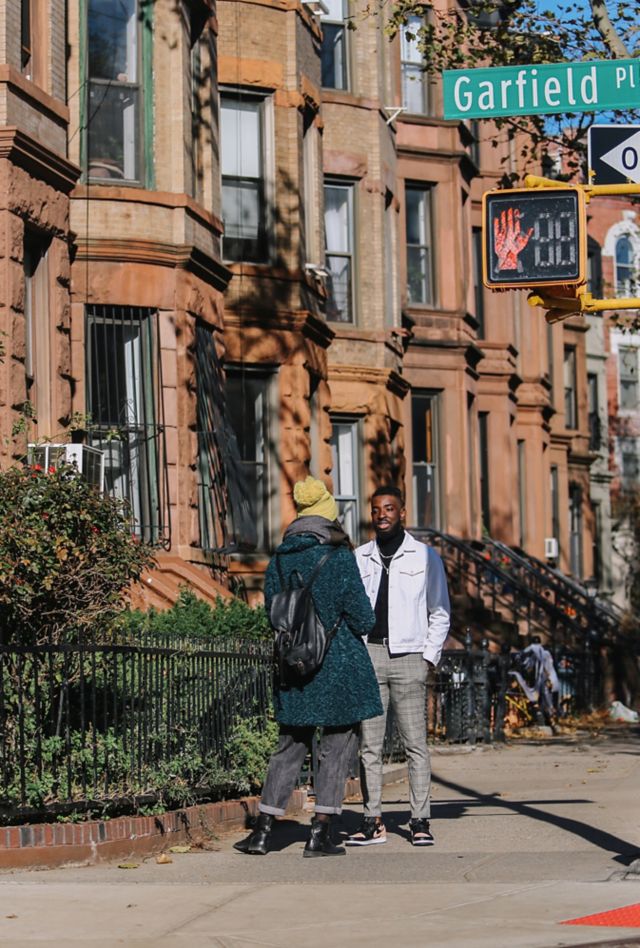
[[[204, 803], [158, 816], [122, 816], [91, 823], [40, 823], [0, 828], [0, 869], [95, 865], [147, 856], [181, 843], [242, 829], [259, 797]], [[307, 791], [294, 790], [287, 814], [302, 812]]]

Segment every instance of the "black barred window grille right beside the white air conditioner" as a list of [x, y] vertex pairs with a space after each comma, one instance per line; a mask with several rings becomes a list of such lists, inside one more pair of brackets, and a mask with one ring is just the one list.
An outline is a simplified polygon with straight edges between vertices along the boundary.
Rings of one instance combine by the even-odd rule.
[[158, 314], [87, 307], [89, 444], [105, 455], [105, 490], [127, 501], [135, 533], [168, 547], [171, 524]]

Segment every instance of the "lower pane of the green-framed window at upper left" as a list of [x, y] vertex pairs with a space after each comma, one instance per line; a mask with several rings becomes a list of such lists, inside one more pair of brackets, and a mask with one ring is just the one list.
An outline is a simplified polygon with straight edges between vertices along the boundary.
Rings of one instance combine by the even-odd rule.
[[91, 178], [139, 179], [138, 90], [89, 84], [88, 151]]

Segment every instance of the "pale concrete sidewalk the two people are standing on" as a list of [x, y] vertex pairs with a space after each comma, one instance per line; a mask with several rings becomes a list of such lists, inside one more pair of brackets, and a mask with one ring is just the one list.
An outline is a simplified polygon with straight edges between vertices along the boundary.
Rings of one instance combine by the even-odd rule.
[[[640, 927], [563, 920], [640, 902], [640, 755], [631, 731], [573, 744], [434, 753], [436, 846], [408, 842], [406, 783], [384, 846], [303, 860], [306, 821], [266, 857], [214, 851], [0, 876], [0, 942], [175, 946], [640, 945]], [[460, 749], [464, 751], [465, 749]], [[349, 803], [336, 836], [359, 821]]]

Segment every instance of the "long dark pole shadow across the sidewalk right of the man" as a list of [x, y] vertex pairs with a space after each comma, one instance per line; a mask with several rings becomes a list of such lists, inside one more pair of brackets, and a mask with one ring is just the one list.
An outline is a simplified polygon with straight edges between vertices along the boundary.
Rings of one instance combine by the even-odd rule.
[[[636, 844], [627, 842], [624, 839], [620, 839], [618, 836], [613, 836], [611, 833], [607, 833], [605, 830], [591, 826], [589, 823], [583, 823], [580, 820], [574, 820], [566, 816], [556, 816], [554, 813], [546, 813], [543, 810], [536, 809], [536, 807], [528, 801], [517, 803], [515, 801], [505, 800], [493, 793], [479, 793], [477, 790], [473, 790], [471, 787], [463, 787], [459, 783], [453, 783], [451, 780], [445, 780], [444, 777], [438, 777], [436, 774], [433, 774], [433, 780], [441, 787], [447, 787], [449, 790], [453, 790], [465, 797], [472, 798], [473, 802], [471, 802], [471, 804], [469, 804], [468, 801], [460, 800], [459, 803], [452, 801], [442, 804], [442, 806], [438, 806], [439, 815], [442, 813], [442, 809], [446, 807], [446, 810], [449, 814], [447, 817], [448, 819], [459, 818], [463, 815], [464, 810], [466, 810], [469, 805], [490, 806], [497, 809], [510, 810], [512, 813], [516, 813], [518, 816], [525, 816], [531, 820], [540, 820], [543, 823], [549, 823], [551, 826], [557, 826], [558, 829], [562, 829], [567, 833], [572, 833], [574, 836], [580, 836], [588, 843], [591, 843], [593, 846], [598, 846], [605, 852], [615, 853], [614, 862], [622, 863], [624, 866], [628, 866], [631, 862], [633, 862], [634, 859], [638, 858], [638, 855], [640, 855], [638, 852], [638, 846]], [[575, 803], [586, 803], [588, 801], [535, 801], [537, 806], [544, 805], [547, 802], [549, 804], [553, 804], [553, 806], [557, 806], [558, 804], [571, 805]]]

